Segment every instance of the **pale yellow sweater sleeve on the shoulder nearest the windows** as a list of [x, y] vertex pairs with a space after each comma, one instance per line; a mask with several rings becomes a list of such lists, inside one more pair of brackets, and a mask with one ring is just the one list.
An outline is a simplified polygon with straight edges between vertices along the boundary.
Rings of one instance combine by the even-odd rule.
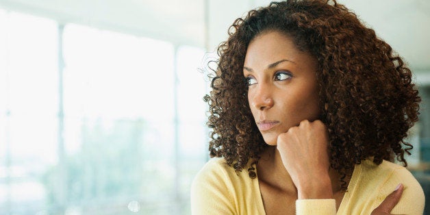
[[235, 214], [225, 184], [225, 173], [215, 162], [208, 162], [197, 173], [191, 185], [191, 214]]

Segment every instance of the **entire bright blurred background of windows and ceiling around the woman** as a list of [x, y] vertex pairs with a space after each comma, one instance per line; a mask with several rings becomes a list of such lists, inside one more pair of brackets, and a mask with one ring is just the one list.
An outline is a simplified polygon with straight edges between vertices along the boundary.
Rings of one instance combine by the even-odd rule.
[[[0, 214], [190, 214], [207, 68], [266, 0], [0, 0]], [[420, 88], [409, 169], [430, 186], [430, 3], [340, 1]]]

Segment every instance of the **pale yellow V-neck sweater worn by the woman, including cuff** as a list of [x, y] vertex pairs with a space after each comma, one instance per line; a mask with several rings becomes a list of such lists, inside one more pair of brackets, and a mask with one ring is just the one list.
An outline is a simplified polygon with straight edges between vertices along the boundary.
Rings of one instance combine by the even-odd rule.
[[[422, 214], [424, 192], [409, 171], [398, 164], [370, 160], [356, 165], [348, 192], [336, 213], [334, 199], [296, 201], [296, 214], [370, 214], [402, 183], [403, 194], [392, 214]], [[224, 158], [212, 158], [197, 173], [191, 186], [192, 214], [266, 214], [258, 179], [246, 169], [236, 174]]]

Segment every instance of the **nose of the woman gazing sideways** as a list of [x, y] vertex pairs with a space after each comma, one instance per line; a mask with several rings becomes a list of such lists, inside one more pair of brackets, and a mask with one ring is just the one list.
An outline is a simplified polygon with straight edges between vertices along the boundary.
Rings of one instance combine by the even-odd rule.
[[[261, 84], [260, 86], [257, 86], [257, 88], [250, 89], [251, 91], [251, 98], [252, 98], [252, 105], [253, 108], [257, 110], [264, 110], [269, 109], [273, 107], [273, 98], [271, 95], [271, 90], [268, 88], [268, 86], [265, 86]], [[250, 93], [250, 92], [248, 92]]]

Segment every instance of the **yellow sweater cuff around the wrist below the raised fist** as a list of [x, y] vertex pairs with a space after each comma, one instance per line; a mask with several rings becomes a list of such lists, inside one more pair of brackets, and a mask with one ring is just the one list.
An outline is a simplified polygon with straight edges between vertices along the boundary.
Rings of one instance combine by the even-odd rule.
[[298, 199], [296, 200], [296, 214], [336, 214], [335, 199]]

